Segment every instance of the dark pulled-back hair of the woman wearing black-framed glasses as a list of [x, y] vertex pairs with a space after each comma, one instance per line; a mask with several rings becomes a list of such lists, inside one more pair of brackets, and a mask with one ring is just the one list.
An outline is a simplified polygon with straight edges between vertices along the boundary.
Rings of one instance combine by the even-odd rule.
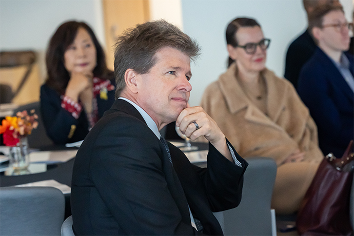
[[[231, 45], [232, 47], [238, 46], [237, 40], [236, 40], [236, 33], [241, 27], [254, 27], [254, 26], [259, 26], [261, 27], [260, 24], [258, 24], [255, 19], [252, 18], [235, 18], [226, 28], [226, 43]], [[234, 60], [232, 60], [229, 57], [229, 62], [228, 66], [229, 67]]]

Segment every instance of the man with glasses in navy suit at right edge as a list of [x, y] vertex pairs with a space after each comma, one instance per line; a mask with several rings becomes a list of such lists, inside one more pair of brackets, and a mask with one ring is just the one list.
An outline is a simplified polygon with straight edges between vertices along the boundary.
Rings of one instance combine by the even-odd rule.
[[324, 154], [341, 158], [354, 133], [354, 79], [349, 48], [349, 24], [342, 7], [325, 6], [310, 18], [318, 48], [304, 65], [298, 92], [309, 108]]

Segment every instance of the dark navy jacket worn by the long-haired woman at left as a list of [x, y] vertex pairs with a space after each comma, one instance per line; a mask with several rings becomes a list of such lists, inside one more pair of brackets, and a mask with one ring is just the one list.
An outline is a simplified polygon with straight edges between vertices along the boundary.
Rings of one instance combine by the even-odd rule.
[[[114, 85], [115, 82], [111, 81], [111, 84]], [[108, 91], [107, 100], [101, 99], [100, 95], [96, 96], [99, 117], [102, 117], [103, 113], [109, 110], [112, 106], [114, 102], [114, 93], [114, 90]], [[85, 108], [83, 108], [80, 116], [76, 120], [70, 112], [62, 108], [61, 104], [62, 100], [60, 94], [48, 85], [42, 85], [41, 112], [48, 136], [55, 144], [73, 143], [84, 140], [89, 131], [89, 123]], [[72, 125], [75, 125], [76, 129], [72, 137], [69, 139], [68, 134]]]

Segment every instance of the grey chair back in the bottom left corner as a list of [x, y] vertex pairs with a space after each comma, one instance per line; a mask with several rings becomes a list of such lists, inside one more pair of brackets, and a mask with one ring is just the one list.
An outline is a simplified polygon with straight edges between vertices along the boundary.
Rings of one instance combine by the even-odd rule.
[[0, 188], [0, 235], [61, 235], [65, 198], [53, 187]]

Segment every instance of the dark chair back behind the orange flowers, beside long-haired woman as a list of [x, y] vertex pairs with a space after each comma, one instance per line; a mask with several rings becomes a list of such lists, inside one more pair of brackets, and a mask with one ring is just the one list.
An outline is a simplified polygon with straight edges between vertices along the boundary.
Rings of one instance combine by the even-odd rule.
[[27, 136], [28, 146], [30, 148], [41, 148], [43, 146], [49, 146], [53, 144], [53, 141], [48, 137], [46, 128], [43, 124], [42, 112], [41, 112], [41, 103], [34, 102], [18, 107], [14, 110], [13, 115], [16, 115], [18, 111], [27, 110], [30, 114], [30, 111], [34, 109], [35, 113], [38, 115], [38, 127], [32, 130], [32, 133]]

